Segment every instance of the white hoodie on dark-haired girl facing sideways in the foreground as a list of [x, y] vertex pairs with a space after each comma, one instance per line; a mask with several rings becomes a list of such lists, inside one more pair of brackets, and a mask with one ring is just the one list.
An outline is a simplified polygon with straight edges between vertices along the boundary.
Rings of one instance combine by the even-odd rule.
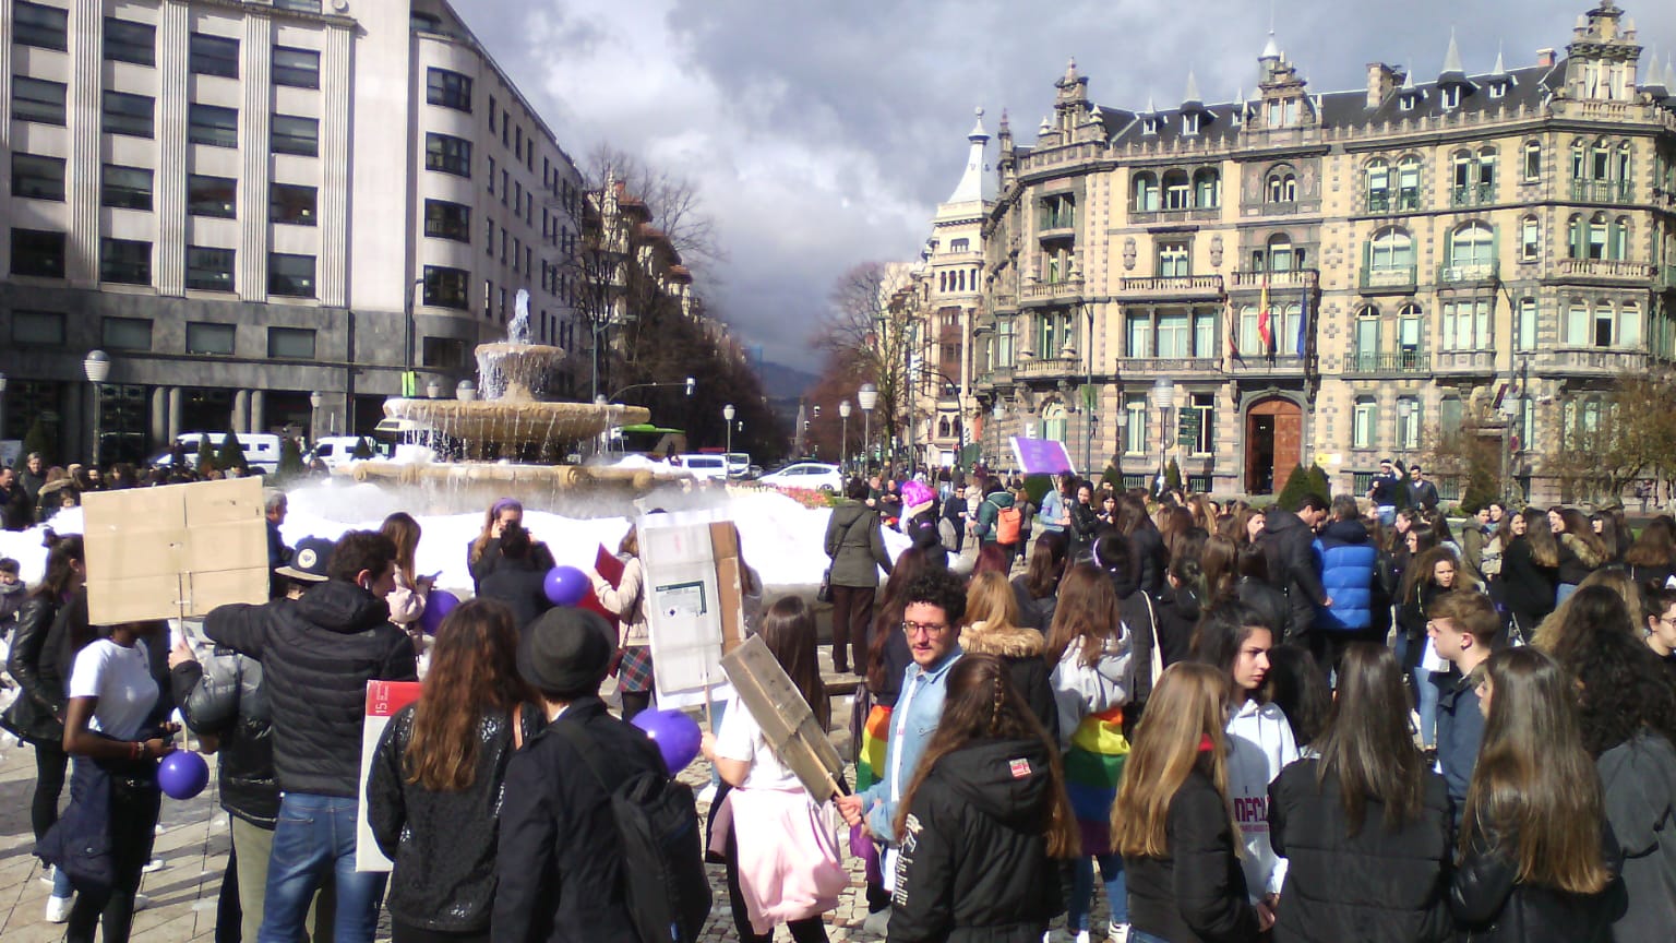
[[1292, 725], [1275, 705], [1247, 700], [1229, 720], [1229, 799], [1245, 836], [1245, 889], [1252, 899], [1279, 894], [1285, 859], [1269, 844], [1269, 784], [1297, 760]]

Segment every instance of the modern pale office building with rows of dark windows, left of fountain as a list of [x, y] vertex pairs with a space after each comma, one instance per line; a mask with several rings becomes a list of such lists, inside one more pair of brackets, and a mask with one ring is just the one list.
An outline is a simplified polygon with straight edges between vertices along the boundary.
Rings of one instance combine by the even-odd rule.
[[0, 128], [0, 438], [369, 431], [520, 290], [587, 383], [582, 175], [442, 0], [7, 0]]

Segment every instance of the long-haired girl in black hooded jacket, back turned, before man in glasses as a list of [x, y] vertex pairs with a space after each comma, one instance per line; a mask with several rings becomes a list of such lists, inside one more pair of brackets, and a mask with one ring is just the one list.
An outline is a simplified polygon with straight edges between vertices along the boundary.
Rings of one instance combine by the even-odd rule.
[[1078, 852], [1059, 750], [987, 654], [949, 695], [902, 797], [892, 940], [1041, 940], [1061, 909], [1056, 859]]

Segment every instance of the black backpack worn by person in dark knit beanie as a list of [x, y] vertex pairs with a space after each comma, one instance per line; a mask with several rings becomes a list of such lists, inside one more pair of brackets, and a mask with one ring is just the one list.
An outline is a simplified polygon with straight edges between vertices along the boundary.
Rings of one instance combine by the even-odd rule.
[[640, 772], [610, 789], [593, 762], [598, 745], [573, 723], [558, 728], [612, 797], [612, 819], [623, 842], [623, 896], [640, 943], [692, 943], [711, 916], [704, 827], [692, 787]]

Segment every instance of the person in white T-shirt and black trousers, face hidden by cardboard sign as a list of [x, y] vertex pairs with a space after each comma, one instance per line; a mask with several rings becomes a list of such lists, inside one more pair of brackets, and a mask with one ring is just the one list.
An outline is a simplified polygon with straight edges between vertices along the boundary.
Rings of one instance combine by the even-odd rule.
[[[69, 710], [64, 722], [64, 752], [77, 757], [72, 775], [72, 807], [65, 810], [45, 849], [82, 844], [84, 829], [102, 829], [111, 847], [111, 884], [96, 886], [77, 874], [79, 891], [70, 908], [64, 938], [92, 943], [104, 918], [106, 943], [124, 943], [134, 918], [134, 894], [141, 873], [151, 861], [153, 829], [158, 826], [158, 760], [174, 750], [173, 723], [156, 723], [161, 688], [151, 673], [149, 644], [163, 623], [126, 623], [111, 634], [87, 643], [75, 653], [70, 669]], [[208, 777], [208, 770], [204, 770]], [[109, 784], [109, 804], [91, 795], [96, 782]], [[201, 787], [201, 784], [199, 784]], [[102, 812], [102, 821], [99, 821]], [[69, 859], [69, 854], [64, 854]], [[57, 862], [60, 867], [67, 861]]]

